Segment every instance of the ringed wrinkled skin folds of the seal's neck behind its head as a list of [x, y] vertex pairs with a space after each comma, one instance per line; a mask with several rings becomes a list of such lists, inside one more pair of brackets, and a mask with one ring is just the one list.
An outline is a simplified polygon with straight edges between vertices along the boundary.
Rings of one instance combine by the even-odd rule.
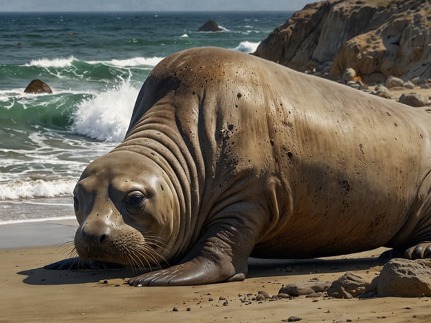
[[[138, 99], [139, 104], [142, 102]], [[175, 109], [165, 98], [131, 126], [126, 139], [114, 150], [128, 150], [149, 157], [160, 167], [173, 195], [173, 231], [164, 241], [167, 253], [164, 256], [169, 264], [179, 262], [186, 255], [198, 239], [204, 222], [204, 217], [195, 216], [199, 212], [200, 188], [204, 187], [202, 157], [199, 151], [192, 157], [191, 143], [180, 133]]]

